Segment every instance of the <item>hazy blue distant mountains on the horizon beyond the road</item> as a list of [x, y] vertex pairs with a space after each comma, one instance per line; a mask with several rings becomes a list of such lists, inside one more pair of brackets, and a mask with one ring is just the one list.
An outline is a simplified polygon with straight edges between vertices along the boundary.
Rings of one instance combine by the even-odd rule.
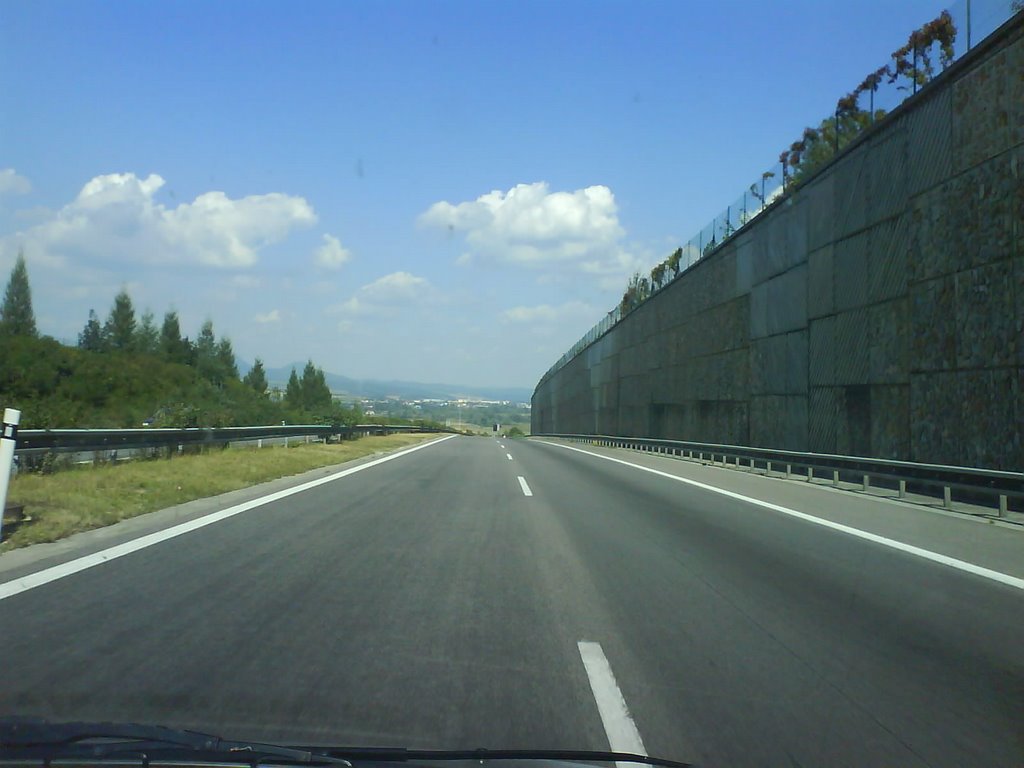
[[[266, 369], [266, 379], [270, 386], [284, 387], [294, 368], [302, 374], [305, 362], [291, 366]], [[239, 370], [245, 375], [252, 367], [251, 362], [239, 360]], [[398, 397], [403, 400], [418, 399], [455, 399], [466, 397], [480, 400], [512, 400], [513, 402], [529, 402], [534, 390], [528, 387], [467, 387], [461, 384], [424, 384], [417, 381], [379, 381], [376, 379], [350, 379], [340, 374], [324, 372], [327, 385], [337, 394], [350, 394], [358, 397], [383, 399]]]

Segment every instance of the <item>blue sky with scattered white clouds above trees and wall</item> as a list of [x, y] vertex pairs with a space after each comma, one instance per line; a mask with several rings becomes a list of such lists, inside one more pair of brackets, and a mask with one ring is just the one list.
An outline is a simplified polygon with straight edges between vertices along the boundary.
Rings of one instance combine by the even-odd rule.
[[240, 357], [529, 386], [945, 3], [0, 5], [0, 270]]

